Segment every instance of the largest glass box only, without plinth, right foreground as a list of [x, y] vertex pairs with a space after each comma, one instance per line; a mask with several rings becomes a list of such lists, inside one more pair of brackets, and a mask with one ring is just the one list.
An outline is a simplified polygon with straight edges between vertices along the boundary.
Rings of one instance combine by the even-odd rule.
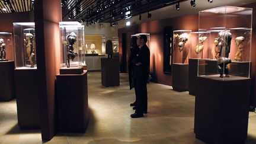
[[250, 77], [252, 9], [217, 7], [199, 12], [199, 30], [209, 35], [209, 57], [199, 59], [199, 76]]

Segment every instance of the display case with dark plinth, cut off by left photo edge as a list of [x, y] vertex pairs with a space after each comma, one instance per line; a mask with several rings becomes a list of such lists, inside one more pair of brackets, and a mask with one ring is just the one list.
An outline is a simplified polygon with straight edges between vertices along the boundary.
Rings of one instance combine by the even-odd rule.
[[12, 33], [0, 32], [0, 101], [9, 101], [15, 97], [12, 43]]

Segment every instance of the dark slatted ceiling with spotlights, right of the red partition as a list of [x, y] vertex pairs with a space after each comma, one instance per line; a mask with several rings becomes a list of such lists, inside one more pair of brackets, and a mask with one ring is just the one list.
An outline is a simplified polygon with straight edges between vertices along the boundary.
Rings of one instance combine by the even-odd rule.
[[[63, 21], [84, 21], [87, 25], [116, 21], [167, 7], [186, 0], [62, 0]], [[130, 11], [130, 14], [129, 14]]]

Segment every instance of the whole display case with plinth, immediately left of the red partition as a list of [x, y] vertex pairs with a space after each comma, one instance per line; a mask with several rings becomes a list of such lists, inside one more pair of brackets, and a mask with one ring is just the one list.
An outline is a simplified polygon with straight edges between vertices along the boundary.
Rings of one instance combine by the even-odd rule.
[[34, 23], [13, 23], [15, 46], [15, 95], [18, 126], [21, 129], [39, 128], [40, 83], [36, 60]]

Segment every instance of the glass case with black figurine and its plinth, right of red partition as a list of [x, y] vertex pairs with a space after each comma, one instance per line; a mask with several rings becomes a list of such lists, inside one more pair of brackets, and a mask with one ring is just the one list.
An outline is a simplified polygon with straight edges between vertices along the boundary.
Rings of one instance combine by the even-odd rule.
[[[59, 22], [62, 41], [60, 73], [56, 75], [59, 132], [85, 132], [88, 125], [88, 85], [85, 70], [84, 25]], [[95, 49], [95, 46], [91, 48]], [[65, 108], [64, 108], [65, 107]]]

